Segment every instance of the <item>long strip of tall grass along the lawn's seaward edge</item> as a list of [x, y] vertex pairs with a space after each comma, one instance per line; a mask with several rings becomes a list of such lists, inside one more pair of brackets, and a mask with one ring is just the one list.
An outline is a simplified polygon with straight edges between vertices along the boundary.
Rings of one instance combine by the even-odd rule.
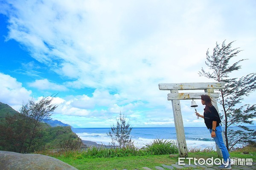
[[113, 157], [125, 157], [125, 156], [146, 156], [146, 155], [168, 155], [178, 153], [177, 144], [175, 141], [154, 139], [151, 144], [146, 144], [143, 148], [135, 147], [133, 143], [126, 145], [125, 147], [88, 147], [86, 149], [79, 150], [41, 150], [35, 153], [52, 156], [55, 158], [65, 157], [73, 159], [82, 158], [113, 158]]

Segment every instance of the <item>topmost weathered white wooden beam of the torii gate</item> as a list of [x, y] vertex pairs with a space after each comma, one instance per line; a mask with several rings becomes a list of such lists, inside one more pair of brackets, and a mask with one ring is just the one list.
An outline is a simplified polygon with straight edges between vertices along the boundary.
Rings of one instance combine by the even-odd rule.
[[204, 89], [224, 89], [224, 82], [211, 83], [163, 83], [158, 84], [160, 90], [204, 90]]

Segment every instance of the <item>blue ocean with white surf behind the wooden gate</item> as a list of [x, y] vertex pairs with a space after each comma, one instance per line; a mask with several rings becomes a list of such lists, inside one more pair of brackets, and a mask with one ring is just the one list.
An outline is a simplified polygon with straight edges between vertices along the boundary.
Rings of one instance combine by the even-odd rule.
[[[237, 127], [232, 128], [236, 129]], [[256, 130], [256, 126], [250, 128]], [[72, 130], [82, 140], [105, 145], [111, 142], [111, 138], [107, 135], [110, 128], [72, 128]], [[202, 150], [207, 147], [212, 147], [213, 150], [216, 149], [215, 141], [211, 138], [206, 127], [184, 127], [184, 131], [188, 149], [198, 148]], [[133, 127], [130, 135], [135, 146], [139, 148], [145, 146], [145, 144], [150, 144], [154, 139], [175, 141], [177, 139], [175, 127]]]

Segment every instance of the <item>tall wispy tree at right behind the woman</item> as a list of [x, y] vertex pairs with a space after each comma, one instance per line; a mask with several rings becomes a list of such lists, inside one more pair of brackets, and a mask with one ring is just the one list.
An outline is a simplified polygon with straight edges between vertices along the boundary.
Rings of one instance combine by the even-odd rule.
[[[256, 73], [241, 78], [230, 78], [229, 74], [241, 69], [239, 63], [246, 60], [242, 59], [230, 64], [230, 60], [241, 52], [239, 48], [231, 48], [233, 42], [226, 45], [224, 41], [221, 47], [216, 43], [212, 55], [209, 55], [208, 49], [205, 63], [209, 72], [203, 68], [199, 72], [200, 76], [226, 83], [225, 88], [220, 90], [218, 103], [221, 104], [220, 115], [225, 125], [224, 136], [228, 150], [234, 149], [236, 144], [249, 144], [256, 139], [255, 131], [244, 126], [244, 124], [253, 124], [252, 119], [256, 117], [256, 104], [241, 105], [244, 97], [256, 89]], [[239, 127], [239, 130], [230, 128], [232, 126]]]

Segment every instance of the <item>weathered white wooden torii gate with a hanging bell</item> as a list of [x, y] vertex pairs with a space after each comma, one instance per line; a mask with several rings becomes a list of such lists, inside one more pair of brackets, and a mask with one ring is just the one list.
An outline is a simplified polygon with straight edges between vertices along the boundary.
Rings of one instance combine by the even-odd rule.
[[[201, 95], [209, 95], [212, 98], [212, 105], [218, 111], [216, 98], [219, 97], [214, 89], [224, 89], [224, 82], [217, 83], [172, 83], [172, 84], [158, 84], [160, 90], [171, 90], [168, 94], [167, 100], [172, 101], [172, 110], [175, 122], [175, 130], [177, 136], [177, 144], [180, 157], [188, 157], [188, 150], [186, 146], [186, 138], [183, 127], [183, 120], [180, 109], [180, 100], [201, 99]], [[204, 90], [204, 92], [195, 93], [179, 93], [178, 90]], [[222, 133], [222, 137], [224, 135]], [[222, 153], [216, 144], [218, 156], [221, 157]]]

